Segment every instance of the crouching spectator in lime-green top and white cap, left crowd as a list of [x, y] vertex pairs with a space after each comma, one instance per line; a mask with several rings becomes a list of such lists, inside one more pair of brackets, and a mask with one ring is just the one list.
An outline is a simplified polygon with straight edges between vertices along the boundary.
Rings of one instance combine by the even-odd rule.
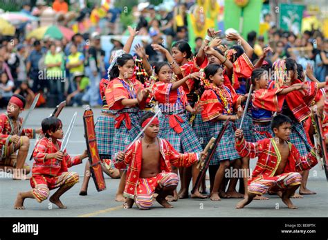
[[77, 89], [67, 96], [66, 103], [73, 105], [73, 107], [82, 106], [82, 98], [86, 92], [87, 86], [89, 86], [89, 78], [85, 77], [82, 72], [75, 72], [73, 80]]

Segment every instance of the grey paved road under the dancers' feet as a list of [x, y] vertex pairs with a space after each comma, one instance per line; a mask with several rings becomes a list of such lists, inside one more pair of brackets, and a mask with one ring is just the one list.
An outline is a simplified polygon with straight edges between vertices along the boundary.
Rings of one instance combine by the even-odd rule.
[[[28, 121], [28, 127], [39, 127], [42, 119], [48, 116], [53, 109], [35, 109], [33, 116]], [[69, 121], [73, 116], [74, 111], [78, 111], [78, 119], [75, 122], [75, 127], [71, 136], [71, 141], [67, 147], [69, 154], [72, 156], [81, 154], [85, 147], [84, 131], [82, 122], [82, 108], [66, 108], [62, 111], [60, 118], [64, 124], [66, 131]], [[100, 109], [94, 109], [95, 120], [100, 114]], [[23, 113], [23, 116], [26, 113]], [[34, 140], [31, 142], [34, 145]], [[30, 147], [30, 152], [32, 147]], [[28, 161], [32, 165], [32, 161]], [[255, 160], [251, 161], [251, 166], [254, 167]], [[122, 208], [122, 204], [114, 201], [114, 196], [118, 187], [119, 180], [105, 177], [107, 190], [97, 192], [93, 181], [89, 184], [89, 195], [79, 196], [84, 165], [78, 165], [71, 168], [72, 171], [80, 174], [80, 183], [75, 185], [69, 192], [62, 196], [62, 202], [68, 206], [66, 210], [60, 210], [55, 205], [52, 205], [48, 200], [43, 203], [37, 203], [33, 199], [26, 200], [26, 210], [19, 211], [13, 209], [13, 203], [19, 191], [30, 190], [29, 181], [12, 181], [9, 174], [1, 173], [0, 178], [0, 216], [90, 216], [90, 217], [111, 217], [111, 216], [235, 216], [235, 217], [257, 217], [257, 216], [282, 216], [282, 217], [297, 217], [297, 216], [312, 216], [320, 217], [328, 215], [328, 191], [325, 174], [317, 165], [311, 169], [308, 187], [318, 192], [313, 196], [304, 196], [304, 199], [295, 199], [295, 205], [298, 210], [289, 210], [285, 207], [282, 201], [277, 196], [269, 196], [268, 201], [253, 201], [248, 207], [243, 210], [236, 210], [235, 205], [238, 199], [223, 199], [222, 201], [194, 200], [184, 199], [176, 203], [173, 209], [163, 209], [158, 203], [154, 203], [154, 208], [149, 211], [140, 211], [134, 206], [130, 210]], [[207, 183], [209, 185], [209, 183]]]

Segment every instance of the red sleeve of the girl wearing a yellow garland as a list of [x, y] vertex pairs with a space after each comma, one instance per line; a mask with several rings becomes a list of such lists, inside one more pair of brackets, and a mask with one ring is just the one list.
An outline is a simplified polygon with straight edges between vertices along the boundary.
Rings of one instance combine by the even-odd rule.
[[201, 95], [199, 104], [203, 107], [203, 111], [201, 111], [201, 118], [204, 122], [208, 122], [219, 117], [223, 112], [223, 106], [217, 99], [217, 95], [215, 95], [214, 91], [210, 89], [204, 91], [203, 95]]

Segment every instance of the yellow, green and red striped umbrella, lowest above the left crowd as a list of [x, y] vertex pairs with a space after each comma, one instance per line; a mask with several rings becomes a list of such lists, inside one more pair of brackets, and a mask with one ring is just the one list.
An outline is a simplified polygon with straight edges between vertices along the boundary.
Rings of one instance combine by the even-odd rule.
[[36, 28], [32, 32], [28, 33], [26, 36], [27, 39], [35, 37], [36, 39], [44, 39], [45, 37], [51, 37], [54, 39], [71, 39], [74, 35], [73, 30], [65, 28], [63, 26], [44, 26]]

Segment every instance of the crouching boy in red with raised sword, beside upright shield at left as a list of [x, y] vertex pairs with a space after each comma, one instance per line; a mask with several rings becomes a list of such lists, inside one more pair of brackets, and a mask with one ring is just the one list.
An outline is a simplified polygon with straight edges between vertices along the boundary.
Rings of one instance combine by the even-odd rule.
[[14, 208], [24, 210], [24, 200], [35, 199], [39, 203], [48, 199], [50, 190], [60, 187], [49, 199], [60, 208], [67, 208], [60, 201], [60, 196], [71, 189], [75, 183], [79, 182], [79, 175], [76, 172], [69, 172], [68, 168], [82, 163], [82, 159], [87, 158], [86, 150], [80, 156], [71, 158], [69, 154], [60, 151], [64, 136], [62, 121], [55, 117], [46, 118], [42, 121], [42, 131], [45, 137], [39, 140], [33, 157], [35, 163], [32, 168], [32, 178], [30, 185], [33, 190], [19, 192]]

